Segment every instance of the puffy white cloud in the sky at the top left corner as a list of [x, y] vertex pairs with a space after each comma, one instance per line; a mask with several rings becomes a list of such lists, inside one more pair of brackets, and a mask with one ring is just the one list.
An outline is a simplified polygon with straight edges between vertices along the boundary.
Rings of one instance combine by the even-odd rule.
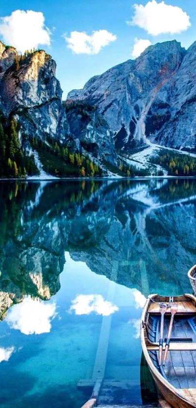
[[10, 16], [0, 18], [0, 35], [7, 45], [25, 50], [39, 44], [50, 45], [50, 31], [44, 24], [44, 15], [32, 10], [16, 10]]

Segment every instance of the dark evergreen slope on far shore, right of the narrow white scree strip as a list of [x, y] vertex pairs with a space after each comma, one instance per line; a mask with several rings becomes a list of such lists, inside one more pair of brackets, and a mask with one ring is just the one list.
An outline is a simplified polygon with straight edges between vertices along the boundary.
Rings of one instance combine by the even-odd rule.
[[33, 138], [32, 146], [39, 154], [43, 169], [58, 177], [102, 177], [102, 169], [89, 156], [72, 152], [67, 146], [48, 138], [47, 143]]

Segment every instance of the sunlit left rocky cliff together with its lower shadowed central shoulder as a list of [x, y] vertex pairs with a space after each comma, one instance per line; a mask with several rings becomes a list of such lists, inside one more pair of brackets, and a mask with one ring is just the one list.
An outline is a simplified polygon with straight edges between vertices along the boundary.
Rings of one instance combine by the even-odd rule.
[[46, 142], [50, 137], [98, 159], [106, 154], [113, 162], [114, 146], [106, 121], [90, 106], [85, 110], [83, 106], [82, 111], [75, 106], [66, 109], [55, 70], [55, 61], [45, 51], [21, 56], [0, 42], [0, 111], [5, 122], [15, 117], [19, 139], [28, 151], [33, 138]]

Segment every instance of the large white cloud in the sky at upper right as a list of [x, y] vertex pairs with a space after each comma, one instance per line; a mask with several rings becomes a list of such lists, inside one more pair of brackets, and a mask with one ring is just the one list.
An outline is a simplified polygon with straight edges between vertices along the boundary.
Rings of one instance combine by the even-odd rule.
[[148, 34], [174, 34], [181, 33], [190, 27], [190, 17], [180, 7], [158, 3], [156, 0], [148, 1], [145, 6], [134, 4], [135, 14], [130, 22], [147, 31]]

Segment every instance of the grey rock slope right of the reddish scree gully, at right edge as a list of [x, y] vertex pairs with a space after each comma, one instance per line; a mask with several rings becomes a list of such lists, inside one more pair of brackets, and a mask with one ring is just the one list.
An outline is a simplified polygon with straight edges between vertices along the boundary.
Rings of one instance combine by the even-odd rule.
[[[152, 116], [169, 115], [152, 142], [175, 148], [196, 149], [196, 42], [186, 51], [173, 77], [160, 89], [152, 106]], [[163, 106], [159, 109], [159, 106]], [[156, 109], [158, 106], [158, 109]], [[156, 113], [155, 113], [156, 109]], [[161, 116], [162, 115], [162, 116]], [[153, 120], [153, 118], [151, 118]]]

